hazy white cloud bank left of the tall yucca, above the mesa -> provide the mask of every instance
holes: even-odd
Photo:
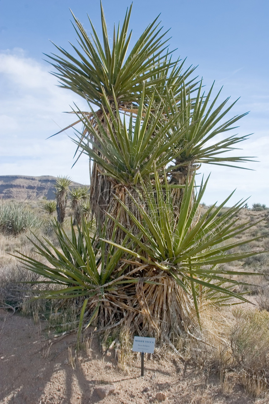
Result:
[[[0,161],[1,175],[71,175],[89,183],[88,159],[83,156],[71,170],[75,144],[65,134],[47,137],[64,128],[74,115],[73,101],[85,102],[58,88],[48,66],[27,57],[22,49],[0,53]],[[55,121],[55,122],[53,122]],[[58,125],[59,126],[58,126]],[[68,132],[72,135],[72,130]]]

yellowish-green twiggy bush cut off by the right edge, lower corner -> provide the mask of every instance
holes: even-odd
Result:
[[[269,372],[269,313],[235,309],[230,343],[234,364],[246,390],[258,396],[267,389]]]

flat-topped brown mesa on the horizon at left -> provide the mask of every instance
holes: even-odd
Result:
[[[55,198],[56,177],[42,175],[31,177],[28,175],[0,175],[0,199],[16,199],[18,201]],[[72,187],[79,187],[77,182]]]

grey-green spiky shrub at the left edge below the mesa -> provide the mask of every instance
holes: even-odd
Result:
[[[0,206],[0,227],[12,234],[33,227],[41,227],[43,221],[31,210],[17,202],[8,202]]]

